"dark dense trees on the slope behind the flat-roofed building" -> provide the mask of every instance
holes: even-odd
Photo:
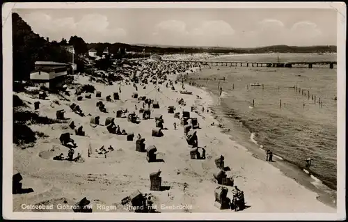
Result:
[[[35,61],[54,61],[57,63],[72,62],[72,54],[65,46],[74,46],[75,54],[86,54],[86,42],[78,36],[72,36],[69,41],[62,38],[61,42],[41,37],[31,30],[17,13],[12,14],[13,21],[13,80],[29,79],[34,69]],[[84,71],[84,62],[79,56],[74,57],[77,72]]]

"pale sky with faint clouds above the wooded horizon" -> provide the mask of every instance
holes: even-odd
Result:
[[[60,41],[262,47],[337,45],[333,9],[16,9],[35,33]]]

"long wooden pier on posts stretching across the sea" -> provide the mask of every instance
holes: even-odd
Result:
[[[292,68],[293,65],[308,65],[308,68],[313,68],[313,65],[329,65],[329,68],[333,69],[333,65],[337,65],[336,61],[317,61],[317,62],[283,62],[283,63],[271,63],[271,62],[249,62],[249,61],[182,61],[182,60],[169,60],[163,59],[163,61],[173,63],[189,63],[189,64],[201,64],[201,65],[214,65],[214,66],[244,66],[244,67],[273,67],[273,68]]]

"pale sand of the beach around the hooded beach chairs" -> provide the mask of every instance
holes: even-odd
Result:
[[[155,62],[164,63],[164,62]],[[139,76],[141,76],[139,72]],[[177,74],[168,74],[167,79],[173,80]],[[294,180],[286,177],[276,167],[267,161],[256,159],[242,145],[230,140],[230,136],[221,132],[209,106],[213,99],[205,90],[185,85],[185,89],[192,95],[180,94],[181,82],[166,87],[163,84],[136,84],[137,91],[132,84],[116,81],[112,86],[90,82],[89,77],[74,75],[74,83],[90,84],[96,91],[102,93],[96,97],[92,93],[90,99],[83,97],[77,101],[73,86],[69,86],[70,101],[49,94],[48,100],[40,100],[40,108],[36,111],[40,116],[56,118],[56,111],[64,109],[65,118],[74,120],[75,125],[82,125],[86,136],[77,136],[70,129],[68,123],[54,123],[51,125],[30,125],[35,132],[42,132],[46,137],[38,138],[32,147],[22,148],[14,145],[14,171],[21,173],[23,188],[32,188],[33,192],[13,195],[13,210],[15,212],[30,212],[22,205],[74,205],[86,197],[93,204],[93,212],[129,212],[121,204],[121,200],[134,191],[151,193],[159,212],[230,212],[230,209],[218,209],[214,206],[214,189],[219,187],[214,180],[216,172],[214,159],[223,155],[225,166],[230,168],[226,173],[233,177],[234,184],[244,191],[246,209],[244,213],[301,213],[327,212],[335,209],[316,200],[316,193],[309,191]],[[121,89],[120,100],[107,102],[105,97]],[[157,90],[159,88],[159,91]],[[139,124],[128,122],[127,118],[116,118],[116,111],[127,109],[128,113],[139,113],[143,102],[132,97],[133,93],[146,96],[159,102],[159,109],[152,109],[151,118],[142,120]],[[33,103],[38,99],[25,93],[15,93],[33,111]],[[177,103],[182,98],[186,106]],[[54,102],[56,101],[56,102]],[[96,103],[102,101],[108,113],[102,113]],[[31,104],[29,104],[30,102]],[[70,104],[78,104],[86,116],[79,116],[70,109]],[[184,128],[180,119],[168,113],[168,106],[175,106],[175,112],[190,111],[191,117],[197,118],[200,129],[197,130],[198,146],[206,150],[206,159],[190,159],[187,141],[184,138]],[[191,112],[191,106],[196,112]],[[203,107],[205,109],[203,113]],[[146,107],[147,108],[147,107]],[[24,109],[24,108],[23,108]],[[100,125],[90,125],[90,116],[100,116]],[[163,115],[164,136],[152,136],[155,129],[156,114]],[[181,114],[180,114],[181,115]],[[148,163],[146,153],[136,152],[136,138],[127,141],[125,135],[110,134],[104,125],[107,117],[115,118],[116,125],[126,132],[133,132],[134,136],[145,138],[145,148],[155,145],[157,159],[163,162]],[[212,125],[214,122],[214,125]],[[176,129],[173,124],[176,123]],[[80,161],[55,161],[53,157],[68,152],[68,148],[59,141],[59,136],[69,132],[77,143],[75,154],[81,154]],[[104,145],[112,145],[113,151],[107,154],[88,157],[88,148],[93,152]],[[98,158],[96,158],[98,157]],[[164,191],[150,191],[150,173],[161,171],[162,186],[168,187]],[[228,186],[226,186],[228,187]],[[230,198],[231,188],[228,187]],[[174,207],[173,207],[174,206]],[[177,207],[187,206],[187,207]],[[64,207],[63,207],[64,208]],[[107,208],[107,209],[106,209]],[[33,210],[35,211],[35,210]],[[45,209],[49,212],[72,212],[72,209]]]

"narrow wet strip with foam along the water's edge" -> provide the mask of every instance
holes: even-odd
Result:
[[[199,71],[196,74],[199,74]],[[196,86],[191,86],[191,87],[198,88]],[[234,118],[228,118],[227,116],[225,116],[223,114],[223,112],[221,110],[214,109],[214,106],[220,106],[218,95],[214,94],[211,90],[209,90],[206,87],[202,87],[202,88],[198,88],[198,89],[203,90],[206,93],[208,93],[210,96],[212,96],[213,104],[211,104],[211,107],[209,109],[212,109],[212,111],[214,111],[214,114],[212,114],[212,116],[217,122],[219,122],[220,124],[222,124],[224,126],[226,126],[226,124],[224,124],[223,122],[226,122],[226,121],[232,125],[235,125],[235,123],[234,123],[235,121],[239,122],[238,120],[235,120]],[[221,133],[234,136],[233,133],[230,131],[228,131],[228,132],[221,131]],[[230,138],[230,139],[233,142],[237,142],[237,143],[241,142],[238,140],[234,141],[232,138]],[[255,159],[264,160],[264,157],[266,156],[265,155],[266,150],[264,150],[263,146],[258,143],[256,134],[254,132],[250,132],[249,139],[250,140],[248,142],[253,143],[255,145],[255,148],[252,147],[253,146],[252,144],[248,144],[248,142],[245,142],[246,145],[244,145],[244,144],[240,144],[240,145],[243,145],[248,152],[251,152],[253,154],[253,157],[255,157]],[[258,150],[262,150],[262,153],[258,152]],[[263,154],[263,156],[262,156],[262,154]],[[292,164],[292,162],[287,161],[287,159],[280,157],[275,153],[273,154],[273,156],[276,157],[276,159],[278,159],[280,161],[279,162],[280,164],[276,163],[276,164],[271,164],[271,165],[274,165],[274,167],[278,168],[281,171],[281,173],[283,173],[286,177],[289,177],[290,179],[295,180],[298,184],[305,186],[306,189],[308,189],[308,191],[313,191],[314,193],[316,193],[317,200],[319,202],[324,203],[325,205],[327,205],[329,207],[333,207],[333,208],[337,209],[337,205],[336,205],[337,198],[333,199],[331,196],[332,193],[330,194],[330,193],[326,192],[326,191],[331,191],[331,192],[333,191],[337,195],[337,191],[335,189],[332,189],[331,187],[326,185],[324,182],[322,182],[322,180],[319,180],[317,177],[315,177],[315,175],[313,175],[313,173],[309,173],[308,171],[301,168],[301,166],[297,166],[296,164]],[[291,172],[292,170],[294,170],[295,173],[292,173]],[[297,174],[296,172],[303,173],[303,175],[296,177],[296,174]],[[306,174],[306,175],[304,175],[304,174]],[[306,178],[303,178],[303,176],[304,177],[309,176],[311,178],[311,180],[313,180],[313,181],[308,182],[308,181],[306,181]],[[307,178],[307,180],[308,180],[308,178]],[[324,187],[322,187],[322,186],[324,186]]]

